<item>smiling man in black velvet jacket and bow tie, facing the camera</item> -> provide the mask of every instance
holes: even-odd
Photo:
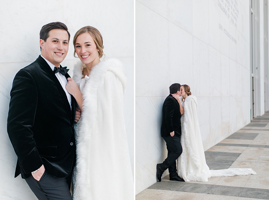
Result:
[[[68,70],[60,66],[69,39],[65,24],[44,25],[41,55],[16,74],[10,92],[7,130],[18,157],[15,177],[21,173],[38,199],[72,199],[73,123],[80,112],[65,89]]]

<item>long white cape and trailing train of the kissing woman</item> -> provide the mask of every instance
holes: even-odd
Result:
[[[181,145],[183,151],[178,158],[178,175],[185,182],[207,182],[211,176],[257,174],[250,168],[209,170],[197,118],[197,104],[196,97],[189,95],[182,105],[184,107],[184,114],[181,116]]]

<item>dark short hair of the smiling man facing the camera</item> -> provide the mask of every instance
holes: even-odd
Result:
[[[70,33],[68,32],[67,26],[64,23],[59,22],[59,21],[51,22],[51,23],[44,25],[41,28],[40,33],[39,33],[40,39],[43,39],[46,42],[48,37],[49,37],[49,31],[51,31],[52,29],[65,30],[68,33],[68,41],[70,40]],[[40,49],[41,49],[41,47],[40,47]]]

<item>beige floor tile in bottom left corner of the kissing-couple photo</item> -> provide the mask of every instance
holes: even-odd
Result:
[[[135,196],[137,200],[164,200],[175,191],[146,189]]]

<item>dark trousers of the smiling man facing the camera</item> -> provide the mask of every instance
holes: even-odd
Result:
[[[39,200],[72,200],[66,178],[56,178],[45,170],[39,181],[33,176],[25,180]]]

